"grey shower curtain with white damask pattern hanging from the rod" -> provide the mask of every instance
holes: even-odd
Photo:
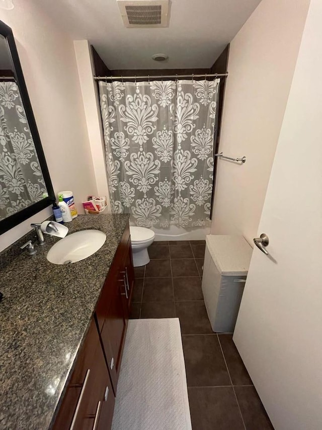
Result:
[[[112,212],[144,227],[209,223],[218,84],[99,83]]]

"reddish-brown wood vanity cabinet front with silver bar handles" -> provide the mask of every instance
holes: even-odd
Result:
[[[111,427],[133,284],[127,227],[78,354],[53,425],[55,430],[109,430]]]

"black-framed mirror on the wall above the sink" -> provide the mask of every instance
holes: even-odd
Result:
[[[53,198],[13,32],[0,21],[0,234]]]

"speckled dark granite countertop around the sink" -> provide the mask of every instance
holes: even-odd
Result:
[[[32,257],[23,253],[0,271],[0,428],[50,428],[71,376],[128,215],[79,215],[69,233],[98,229],[103,247],[69,265],[49,263],[59,240],[45,235]]]

